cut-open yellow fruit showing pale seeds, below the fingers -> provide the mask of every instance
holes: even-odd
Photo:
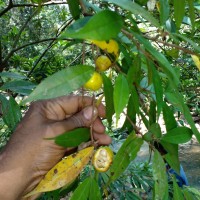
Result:
[[[106,172],[113,161],[113,152],[109,147],[100,147],[93,156],[92,164],[99,172]]]

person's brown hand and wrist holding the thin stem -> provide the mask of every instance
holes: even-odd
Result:
[[[44,138],[90,127],[93,123],[94,139],[99,145],[108,145],[111,138],[105,134],[101,117],[105,117],[103,105],[92,106],[90,97],[65,96],[33,103],[0,155],[3,160],[0,178],[7,180],[1,181],[0,199],[21,198],[72,150]],[[11,192],[7,198],[1,198],[2,188],[6,190],[6,187]]]

